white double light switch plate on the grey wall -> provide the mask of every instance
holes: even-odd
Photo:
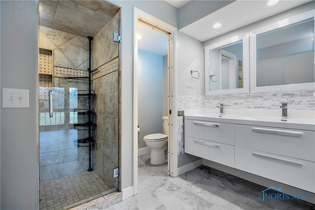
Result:
[[[29,90],[2,88],[2,108],[29,108]]]

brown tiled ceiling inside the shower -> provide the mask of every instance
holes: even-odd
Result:
[[[119,11],[105,0],[39,0],[39,25],[95,36]]]

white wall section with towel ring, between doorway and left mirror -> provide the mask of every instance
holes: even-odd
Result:
[[[204,49],[202,42],[178,31],[178,94],[204,94]],[[190,75],[190,70],[199,71],[199,79]],[[195,75],[195,74],[194,74]]]

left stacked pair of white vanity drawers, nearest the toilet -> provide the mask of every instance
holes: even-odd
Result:
[[[185,120],[185,152],[234,168],[234,124]]]

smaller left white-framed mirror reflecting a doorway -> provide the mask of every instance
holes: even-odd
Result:
[[[248,37],[243,34],[205,47],[206,95],[249,91]]]

